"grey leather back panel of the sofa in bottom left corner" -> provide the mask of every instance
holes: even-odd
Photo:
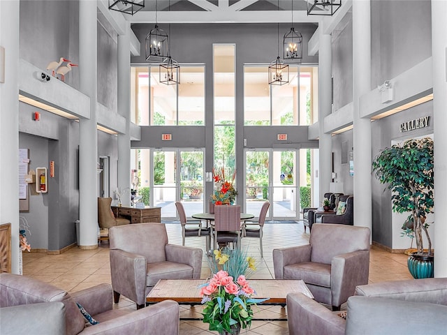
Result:
[[[1,334],[65,334],[65,305],[60,301],[0,308]]]

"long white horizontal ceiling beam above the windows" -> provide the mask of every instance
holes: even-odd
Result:
[[[233,9],[230,6],[229,9]],[[135,15],[126,15],[131,23],[154,23],[155,12],[140,11]],[[305,10],[293,10],[294,23],[319,23],[322,17],[307,15]],[[214,11],[177,11],[158,12],[158,23],[288,23],[291,22],[290,10],[214,10]]]

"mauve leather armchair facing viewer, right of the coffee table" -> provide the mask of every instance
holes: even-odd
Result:
[[[368,283],[369,228],[315,223],[309,244],[273,250],[277,279],[302,279],[315,300],[338,310]]]

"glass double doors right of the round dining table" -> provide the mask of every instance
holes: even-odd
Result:
[[[245,211],[256,216],[270,202],[267,220],[297,220],[299,193],[296,150],[245,151]]]

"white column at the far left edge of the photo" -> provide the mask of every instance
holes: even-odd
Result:
[[[0,46],[5,81],[0,82],[0,224],[11,223],[11,271],[19,274],[19,1],[0,1]]]

